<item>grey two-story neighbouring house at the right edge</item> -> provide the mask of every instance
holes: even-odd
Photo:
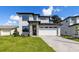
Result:
[[[61,35],[79,37],[79,16],[70,16],[63,20]]]

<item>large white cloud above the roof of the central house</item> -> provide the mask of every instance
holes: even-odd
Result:
[[[47,9],[44,8],[42,10],[42,13],[43,13],[44,16],[51,16],[52,13],[60,12],[60,11],[61,11],[61,9],[58,9],[58,8],[54,9],[53,6],[49,6],[49,8],[47,8]]]

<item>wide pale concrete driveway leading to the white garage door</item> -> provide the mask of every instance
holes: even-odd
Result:
[[[79,42],[58,36],[41,36],[57,52],[79,52]]]

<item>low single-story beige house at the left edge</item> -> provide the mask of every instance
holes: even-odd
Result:
[[[0,36],[12,35],[15,28],[16,27],[9,25],[0,26]]]

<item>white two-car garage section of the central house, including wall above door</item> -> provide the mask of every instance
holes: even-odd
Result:
[[[52,25],[40,25],[39,36],[60,36],[60,28]]]

